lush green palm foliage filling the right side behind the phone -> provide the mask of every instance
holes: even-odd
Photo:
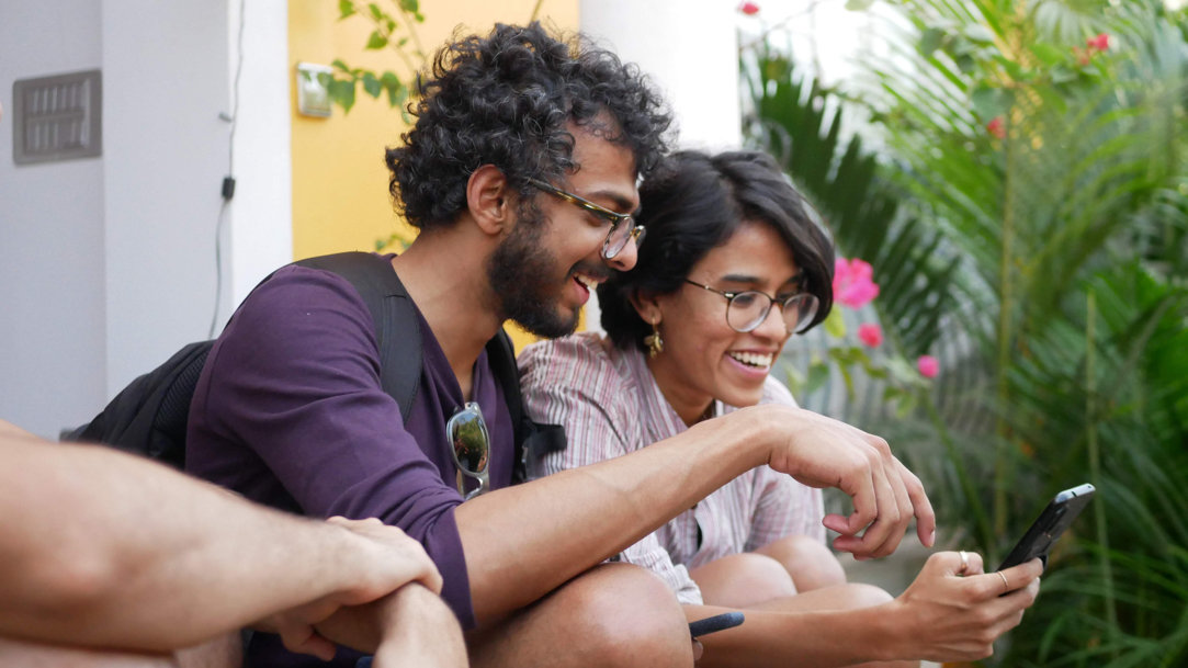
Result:
[[[866,62],[877,86],[842,97],[794,82],[777,102],[784,84],[766,82],[753,96],[773,107],[758,115],[800,115],[763,134],[810,153],[788,164],[798,182],[816,179],[819,203],[892,200],[880,248],[915,221],[916,244],[936,256],[921,270],[956,264],[948,281],[917,281],[949,300],[935,341],[971,342],[963,366],[978,370],[972,391],[992,422],[963,428],[944,397],[922,403],[937,409],[936,429],[917,422],[916,433],[961,443],[928,450],[947,461],[921,472],[953,491],[937,503],[942,521],[984,518],[973,537],[993,563],[1043,497],[1083,481],[1101,489],[1003,663],[1183,664],[1188,17],[1154,0],[890,4],[910,30],[886,30],[886,53]],[[868,177],[838,150],[836,119],[821,121],[855,102],[884,143]],[[847,200],[830,191],[842,174],[870,185]],[[828,207],[846,252],[847,235],[877,229]],[[918,300],[903,303],[911,313]]]

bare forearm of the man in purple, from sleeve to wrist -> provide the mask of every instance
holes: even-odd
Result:
[[[460,505],[480,623],[537,600],[764,464],[758,427],[737,415]]]

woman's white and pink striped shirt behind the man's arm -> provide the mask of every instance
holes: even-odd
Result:
[[[569,442],[562,452],[530,458],[531,478],[624,455],[688,429],[661,393],[643,353],[620,351],[598,334],[533,344],[520,354],[519,370],[527,415],[561,424]],[[796,405],[788,387],[771,377],[760,403]],[[715,410],[722,415],[737,409],[716,402]],[[760,466],[631,546],[621,557],[661,575],[681,603],[700,604],[701,591],[689,568],[790,535],[823,542],[823,515],[820,490]]]

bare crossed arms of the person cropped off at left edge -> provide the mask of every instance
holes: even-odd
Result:
[[[168,666],[253,624],[328,656],[312,624],[371,601],[377,666],[466,664],[437,571],[375,519],[293,517],[2,421],[0,513],[2,666]]]

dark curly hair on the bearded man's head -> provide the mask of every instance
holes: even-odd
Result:
[[[385,163],[397,208],[421,229],[453,222],[481,165],[499,168],[525,197],[529,178],[551,182],[575,169],[570,121],[631,149],[640,175],[665,152],[671,124],[636,65],[580,38],[557,39],[538,23],[498,24],[486,38],[447,44],[417,93],[417,122]],[[614,126],[592,126],[604,113]]]

